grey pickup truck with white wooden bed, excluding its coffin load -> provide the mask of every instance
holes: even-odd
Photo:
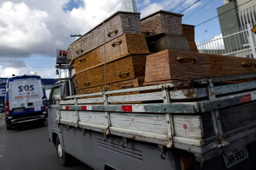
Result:
[[[256,74],[73,91],[56,83],[49,99],[63,166],[72,155],[96,170],[255,169]]]

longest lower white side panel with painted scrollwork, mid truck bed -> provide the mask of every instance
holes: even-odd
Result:
[[[165,115],[110,113],[111,126],[167,134]]]

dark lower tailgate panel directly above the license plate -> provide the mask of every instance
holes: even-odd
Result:
[[[256,102],[219,111],[222,129],[227,132],[232,129],[253,123],[256,121]]]

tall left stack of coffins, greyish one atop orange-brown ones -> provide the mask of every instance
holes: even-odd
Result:
[[[140,13],[116,12],[69,46],[76,94],[142,85],[148,54]]]

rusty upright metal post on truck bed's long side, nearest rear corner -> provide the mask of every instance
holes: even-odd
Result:
[[[163,103],[171,103],[170,94],[168,88],[165,85],[162,86],[162,94],[163,94]],[[167,122],[167,130],[168,130],[168,141],[167,148],[173,147],[173,136],[175,136],[174,124],[173,124],[173,116],[171,113],[166,113],[166,122]]]

